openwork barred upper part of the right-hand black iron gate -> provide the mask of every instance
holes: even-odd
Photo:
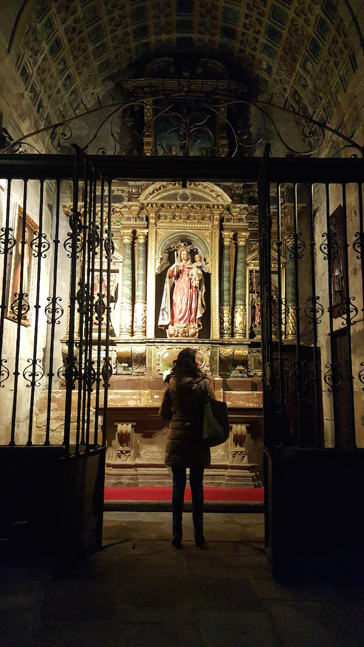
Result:
[[[284,173],[266,148],[258,178],[265,446],[355,448],[364,384],[362,161],[322,160],[321,169],[297,161]]]

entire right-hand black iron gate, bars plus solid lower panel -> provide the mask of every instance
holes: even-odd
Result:
[[[289,167],[269,148],[260,168],[266,548],[284,580],[363,575],[362,179],[363,160]]]

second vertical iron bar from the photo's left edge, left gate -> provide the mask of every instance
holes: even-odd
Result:
[[[12,427],[11,427],[11,433],[10,433],[10,445],[15,445],[15,422],[16,422],[16,407],[17,407],[17,383],[19,379],[19,353],[20,353],[20,334],[21,334],[21,318],[23,316],[23,301],[25,301],[25,296],[28,297],[29,300],[29,294],[23,294],[23,278],[24,278],[24,245],[25,245],[25,228],[26,228],[26,222],[27,222],[27,188],[28,188],[28,181],[27,179],[24,181],[24,187],[23,187],[23,225],[21,227],[21,260],[20,260],[20,281],[19,281],[19,294],[17,295],[17,299],[14,300],[13,302],[13,295],[10,294],[11,290],[11,285],[9,287],[9,295],[8,295],[8,302],[11,300],[11,309],[13,309],[14,304],[17,301],[17,313],[14,309],[14,319],[16,318],[17,320],[17,331],[16,331],[16,353],[15,353],[15,363],[14,363],[14,393],[13,393],[13,406],[12,406]],[[16,215],[17,217],[17,215]],[[14,236],[14,239],[16,237]],[[16,253],[16,248],[13,248],[14,253]],[[11,265],[9,264],[9,272],[11,275]],[[28,287],[28,292],[29,292],[29,287]],[[14,296],[16,296],[14,294]],[[5,307],[4,303],[4,307]],[[29,308],[28,308],[29,309]],[[16,316],[15,316],[16,314]],[[27,444],[32,444],[32,436],[31,434],[28,433],[28,441]]]

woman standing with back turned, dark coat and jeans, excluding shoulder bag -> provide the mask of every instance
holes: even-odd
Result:
[[[186,468],[190,468],[192,520],[196,546],[205,543],[203,536],[203,470],[210,465],[210,449],[203,445],[203,391],[214,397],[210,380],[201,371],[196,351],[185,348],[174,361],[166,378],[168,386],[163,395],[159,415],[170,420],[165,464],[172,468],[172,545],[181,547],[183,499]]]

